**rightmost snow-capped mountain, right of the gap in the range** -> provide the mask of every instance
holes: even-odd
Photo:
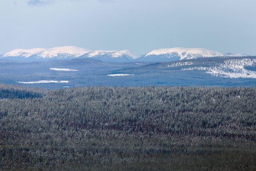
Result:
[[[206,57],[222,57],[222,56],[248,56],[245,54],[224,54],[218,51],[206,50],[205,48],[163,48],[154,50],[137,59],[140,61],[175,61],[184,59],[196,59]]]

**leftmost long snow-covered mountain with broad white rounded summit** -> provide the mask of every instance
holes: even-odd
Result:
[[[2,58],[15,58],[15,59],[72,59],[91,52],[82,47],[63,46],[54,48],[32,48],[17,49],[2,55]]]

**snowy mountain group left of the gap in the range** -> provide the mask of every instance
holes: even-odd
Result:
[[[73,59],[73,58],[94,58],[106,62],[128,62],[138,56],[128,50],[122,51],[91,51],[81,47],[63,46],[54,48],[32,48],[17,49],[2,55],[2,58],[15,59]]]

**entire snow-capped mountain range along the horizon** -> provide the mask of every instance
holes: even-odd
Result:
[[[54,48],[32,48],[17,49],[7,52],[0,56],[2,59],[29,59],[29,60],[46,60],[46,59],[74,59],[86,58],[97,59],[104,62],[131,62],[133,60],[141,62],[168,62],[184,59],[196,59],[206,57],[225,57],[225,56],[249,56],[246,54],[222,53],[205,48],[164,48],[153,50],[143,56],[137,56],[128,50],[96,50],[91,51],[82,47],[63,46]]]

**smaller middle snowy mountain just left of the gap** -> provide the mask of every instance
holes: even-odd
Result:
[[[104,62],[130,62],[132,59],[137,58],[135,54],[128,50],[123,51],[104,51],[97,50],[84,54],[79,58],[90,58],[102,60]]]

